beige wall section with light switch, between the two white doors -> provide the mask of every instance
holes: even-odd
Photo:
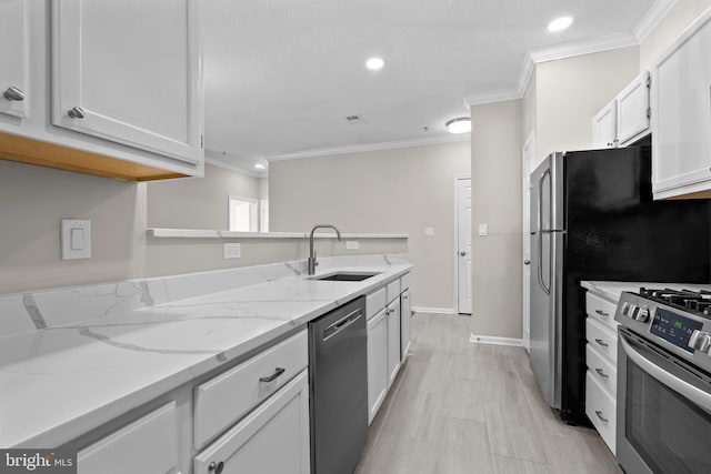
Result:
[[[522,101],[471,107],[472,332],[521,337]],[[479,224],[487,223],[487,236]]]

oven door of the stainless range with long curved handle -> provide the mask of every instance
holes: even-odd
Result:
[[[618,462],[628,474],[711,473],[711,380],[620,327]]]

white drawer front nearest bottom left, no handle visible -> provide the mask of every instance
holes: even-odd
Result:
[[[179,472],[176,402],[77,453],[79,474]]]

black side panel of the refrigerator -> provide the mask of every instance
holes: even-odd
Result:
[[[565,270],[561,416],[585,420],[581,280],[705,283],[711,208],[652,201],[648,147],[565,154]]]

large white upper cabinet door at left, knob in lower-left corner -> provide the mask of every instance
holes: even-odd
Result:
[[[52,2],[52,123],[201,160],[201,43],[194,0]]]

